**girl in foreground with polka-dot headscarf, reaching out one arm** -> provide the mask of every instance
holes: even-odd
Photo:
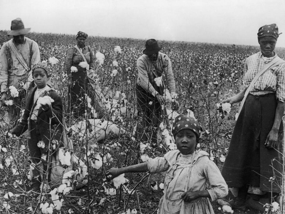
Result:
[[[224,178],[205,151],[195,151],[201,126],[196,119],[180,114],[175,118],[172,134],[178,150],[167,152],[164,157],[149,158],[123,168],[111,168],[106,172],[113,179],[126,172],[159,173],[167,171],[164,180],[164,196],[159,202],[160,214],[193,213],[212,214],[212,201],[227,196]],[[206,190],[207,184],[210,187]]]

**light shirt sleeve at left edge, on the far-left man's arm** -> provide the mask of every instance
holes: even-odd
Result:
[[[1,85],[1,93],[5,92],[8,84],[8,59],[6,52],[6,44],[1,47],[0,50],[0,85]]]

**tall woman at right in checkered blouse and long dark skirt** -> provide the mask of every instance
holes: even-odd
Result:
[[[265,25],[257,33],[261,51],[244,64],[245,88],[222,103],[242,101],[229,144],[222,175],[230,187],[238,188],[234,206],[246,209],[258,204],[260,195],[281,193],[282,147],[285,108],[285,62],[274,52],[278,34],[276,24]],[[271,197],[269,197],[270,202]]]

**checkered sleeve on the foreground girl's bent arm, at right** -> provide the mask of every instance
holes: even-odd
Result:
[[[204,173],[210,184],[208,192],[211,196],[211,200],[215,201],[216,199],[227,196],[228,186],[221,175],[219,168],[213,161],[208,161],[208,164],[205,165]]]

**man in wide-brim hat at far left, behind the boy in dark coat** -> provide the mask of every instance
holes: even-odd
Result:
[[[21,107],[23,108],[21,100],[25,98],[26,90],[33,80],[31,67],[41,60],[38,44],[24,36],[30,30],[31,28],[24,27],[20,18],[12,20],[11,30],[7,35],[13,36],[13,39],[4,43],[0,50],[1,102],[7,105],[9,103],[8,118],[12,126],[19,119]],[[18,89],[18,97],[11,96],[13,89],[9,89],[10,86]],[[13,100],[13,104],[7,100]]]

